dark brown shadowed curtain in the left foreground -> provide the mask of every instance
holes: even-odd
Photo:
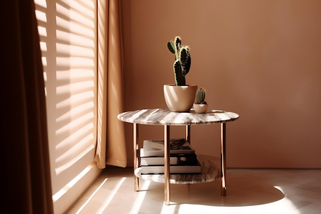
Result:
[[[2,210],[53,213],[45,83],[33,0],[2,3]]]

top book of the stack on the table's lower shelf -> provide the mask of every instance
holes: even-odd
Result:
[[[164,156],[164,140],[144,140],[145,156]],[[186,139],[171,139],[170,154],[194,154],[195,150]]]

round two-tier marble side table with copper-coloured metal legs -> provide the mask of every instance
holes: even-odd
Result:
[[[141,109],[134,111],[127,111],[118,114],[118,120],[133,124],[133,143],[134,143],[134,189],[139,190],[138,178],[153,180],[155,177],[145,177],[139,173],[138,159],[139,159],[139,146],[138,146],[138,124],[145,125],[163,125],[164,126],[164,159],[165,159],[165,172],[164,176],[160,176],[155,181],[165,183],[165,204],[170,204],[170,183],[184,183],[182,177],[175,177],[170,174],[169,170],[169,141],[170,141],[170,126],[186,126],[186,140],[191,142],[190,126],[191,125],[209,125],[221,124],[221,160],[220,160],[220,175],[222,179],[221,195],[226,196],[226,123],[234,121],[239,118],[239,115],[234,112],[223,110],[208,110],[206,113],[196,113],[193,109],[189,112],[172,112],[169,109]],[[208,159],[208,158],[207,158]],[[213,168],[215,171],[215,169]],[[213,171],[211,170],[211,171]],[[214,173],[214,172],[213,172]],[[217,173],[217,170],[216,170]],[[204,174],[203,174],[204,176]],[[208,176],[208,175],[205,175]],[[159,177],[159,176],[158,176]],[[210,179],[199,180],[199,182],[208,182],[217,179],[217,174],[213,174]],[[191,178],[189,178],[191,179]],[[196,179],[197,180],[197,179]],[[186,183],[196,183],[194,178],[192,181],[185,181]]]

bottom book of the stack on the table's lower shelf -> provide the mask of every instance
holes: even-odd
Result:
[[[200,174],[201,167],[197,160],[196,164],[191,165],[170,165],[169,172],[170,174]],[[141,168],[142,174],[164,174],[165,171],[164,165],[141,166]]]

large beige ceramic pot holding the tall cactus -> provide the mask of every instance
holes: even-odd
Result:
[[[169,110],[189,112],[195,101],[197,85],[164,85],[164,98]]]

